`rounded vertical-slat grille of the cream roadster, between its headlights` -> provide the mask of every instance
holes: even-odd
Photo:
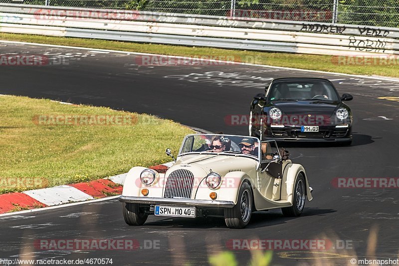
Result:
[[[194,174],[186,169],[173,171],[168,176],[165,186],[165,198],[191,198]]]

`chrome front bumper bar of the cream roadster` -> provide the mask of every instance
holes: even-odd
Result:
[[[219,200],[193,200],[193,199],[120,196],[119,201],[127,203],[150,204],[150,205],[165,204],[171,206],[219,207],[219,208],[234,207],[234,202],[232,201],[219,201]]]

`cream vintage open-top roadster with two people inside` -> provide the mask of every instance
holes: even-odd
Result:
[[[276,141],[257,137],[190,134],[165,174],[136,166],[127,174],[122,212],[128,225],[149,215],[224,216],[229,228],[244,228],[254,211],[281,208],[299,216],[312,188],[302,165],[288,159]]]

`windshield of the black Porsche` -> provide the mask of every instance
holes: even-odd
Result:
[[[324,81],[276,82],[270,88],[269,101],[338,101],[336,90]]]

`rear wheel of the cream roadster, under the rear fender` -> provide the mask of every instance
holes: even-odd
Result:
[[[295,217],[302,214],[306,201],[306,182],[303,174],[299,174],[294,185],[292,206],[281,208],[284,216]]]

